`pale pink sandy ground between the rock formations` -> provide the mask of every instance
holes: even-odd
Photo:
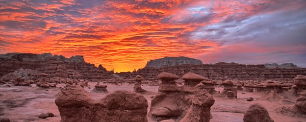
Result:
[[[86,91],[91,91],[96,83],[89,83],[91,89],[85,88]],[[11,87],[5,85],[0,86],[0,118],[9,118],[11,121],[60,121],[60,113],[55,105],[56,94],[60,91],[60,88],[39,88],[36,86],[14,86]],[[148,101],[148,105],[151,102],[151,96],[154,96],[154,92],[158,92],[159,86],[143,85],[142,88],[148,91],[152,91],[153,94],[144,94],[144,97]],[[122,84],[120,86],[108,84],[107,89],[112,92],[115,90],[127,90],[133,91],[133,84]],[[222,88],[216,88],[217,91],[221,91]],[[244,94],[242,93],[244,92]],[[99,100],[107,94],[104,93],[91,93],[95,100]],[[230,121],[243,121],[244,112],[248,107],[254,103],[259,103],[264,106],[272,119],[275,122],[292,122],[292,121],[304,121],[306,118],[291,117],[277,113],[275,108],[281,107],[279,103],[258,101],[257,99],[262,95],[259,92],[246,92],[238,91],[237,100],[228,100],[220,97],[214,97],[215,104],[211,107],[211,113],[213,118],[212,122],[230,122]],[[254,101],[247,102],[247,97],[253,97]],[[292,100],[295,101],[295,100]],[[293,104],[292,104],[293,105]],[[148,108],[149,109],[149,108]],[[52,112],[56,116],[46,119],[38,118],[41,113]],[[149,119],[149,121],[151,121]]]

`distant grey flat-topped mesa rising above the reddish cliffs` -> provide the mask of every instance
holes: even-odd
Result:
[[[182,64],[203,64],[202,61],[188,57],[164,57],[161,59],[150,60],[146,64],[147,67],[160,68]]]

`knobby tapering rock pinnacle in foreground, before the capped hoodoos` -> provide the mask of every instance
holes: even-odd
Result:
[[[205,87],[203,84],[196,85],[192,105],[180,122],[209,122],[212,118],[210,108],[215,100],[203,87]]]

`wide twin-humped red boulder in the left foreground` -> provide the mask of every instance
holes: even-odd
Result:
[[[55,103],[61,122],[147,121],[147,100],[135,92],[115,91],[95,101],[80,85],[68,85],[58,93]]]

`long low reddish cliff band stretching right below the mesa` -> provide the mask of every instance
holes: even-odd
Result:
[[[166,71],[180,78],[187,72],[193,72],[212,80],[286,80],[292,81],[296,75],[306,75],[306,68],[266,68],[264,65],[244,65],[237,63],[216,63],[201,65],[180,65],[171,67],[145,67],[133,74],[141,75],[145,80],[156,80],[161,72]],[[119,76],[121,76],[119,74]],[[135,76],[134,76],[135,77]]]

